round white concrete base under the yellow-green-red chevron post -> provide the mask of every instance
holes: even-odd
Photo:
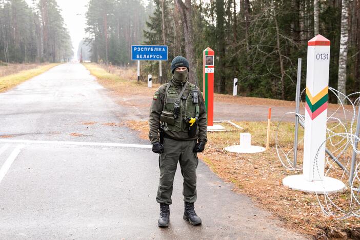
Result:
[[[332,177],[324,177],[323,181],[306,181],[303,175],[287,176],[283,179],[285,187],[308,193],[330,194],[336,192],[343,192],[346,187],[345,184]]]

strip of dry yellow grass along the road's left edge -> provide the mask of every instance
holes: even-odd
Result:
[[[6,71],[6,73],[9,72],[16,72],[13,74],[9,74],[9,75],[5,75],[0,77],[0,92],[5,92],[7,90],[9,90],[10,88],[15,87],[18,84],[21,84],[23,82],[25,82],[26,80],[37,76],[39,74],[42,74],[43,72],[48,71],[50,68],[55,67],[56,65],[58,65],[57,63],[54,64],[46,64],[46,65],[13,65],[10,64],[9,66],[2,66],[0,67],[0,69],[6,68],[7,70],[2,70],[3,74],[4,71]],[[12,69],[11,67],[13,67],[14,69]],[[32,67],[31,69],[28,70],[23,70],[26,69],[27,67]],[[17,70],[19,70],[17,72]]]

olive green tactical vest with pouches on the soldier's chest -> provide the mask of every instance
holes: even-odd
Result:
[[[160,121],[165,123],[167,130],[180,132],[189,130],[189,126],[184,119],[189,117],[198,117],[199,106],[192,101],[192,93],[196,91],[195,85],[189,83],[189,95],[183,97],[184,91],[188,86],[188,82],[184,85],[180,94],[171,82],[168,83],[165,92],[165,101]]]

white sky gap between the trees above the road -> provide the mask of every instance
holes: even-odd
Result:
[[[29,6],[32,6],[32,0],[26,0]],[[76,58],[77,46],[81,39],[85,37],[87,11],[86,5],[89,0],[56,0],[57,5],[62,10],[64,22],[69,30],[74,55]]]

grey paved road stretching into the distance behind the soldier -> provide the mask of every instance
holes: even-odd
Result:
[[[121,124],[122,111],[80,64],[0,94],[1,239],[302,238],[203,163],[195,207],[204,224],[182,219],[177,172],[170,227],[159,229],[157,155]]]

